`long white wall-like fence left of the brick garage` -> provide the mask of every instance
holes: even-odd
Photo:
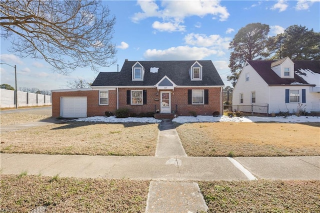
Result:
[[[0,97],[1,108],[15,107],[14,90],[0,89]],[[51,105],[51,95],[17,91],[17,97],[18,107]]]

